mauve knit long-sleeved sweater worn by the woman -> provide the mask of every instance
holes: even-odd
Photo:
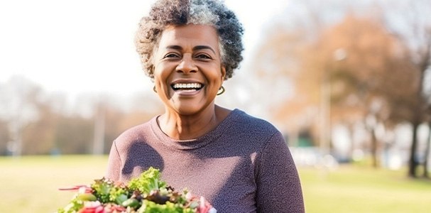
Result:
[[[218,213],[305,212],[300,179],[280,131],[239,109],[206,135],[175,141],[156,117],[112,144],[106,178],[127,182],[153,166],[175,190],[204,196]]]

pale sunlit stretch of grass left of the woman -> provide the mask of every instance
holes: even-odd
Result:
[[[0,158],[0,212],[55,212],[74,195],[58,188],[92,183],[106,164],[105,156]]]

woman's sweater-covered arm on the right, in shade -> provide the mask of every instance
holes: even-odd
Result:
[[[305,212],[298,171],[280,132],[256,160],[258,212]]]

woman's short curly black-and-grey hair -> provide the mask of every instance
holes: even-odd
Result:
[[[222,64],[226,69],[224,80],[232,77],[243,60],[244,28],[235,13],[219,0],[159,0],[153,4],[149,15],[141,19],[135,38],[136,51],[146,75],[154,78],[153,51],[163,30],[187,24],[206,24],[217,29]]]

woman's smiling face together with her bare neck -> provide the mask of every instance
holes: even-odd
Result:
[[[159,122],[168,124],[160,127],[165,127],[163,131],[169,136],[176,139],[202,136],[229,114],[226,109],[214,109],[214,99],[226,75],[214,27],[189,24],[166,28],[154,61],[156,91],[166,109]],[[177,115],[182,116],[181,121],[195,119],[195,124],[181,130],[170,125],[173,121],[170,119]]]

